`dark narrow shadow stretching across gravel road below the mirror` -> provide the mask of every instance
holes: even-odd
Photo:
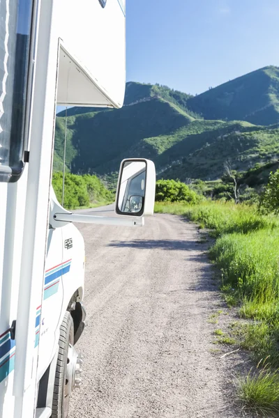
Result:
[[[139,249],[167,249],[197,251],[196,242],[176,240],[131,240],[112,241],[107,247],[139,248]]]

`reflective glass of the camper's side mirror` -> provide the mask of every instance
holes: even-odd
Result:
[[[146,162],[126,161],[121,173],[119,211],[139,213],[142,210],[145,194]]]

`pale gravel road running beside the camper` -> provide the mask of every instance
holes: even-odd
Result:
[[[239,418],[231,356],[213,354],[220,296],[195,225],[155,215],[144,228],[78,228],[88,325],[70,418]]]

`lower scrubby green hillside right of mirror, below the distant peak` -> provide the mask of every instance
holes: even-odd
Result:
[[[201,146],[197,146],[194,152],[188,151],[189,139],[174,147],[176,155],[181,153],[181,158],[169,164],[160,174],[161,177],[179,178],[182,181],[187,178],[213,180],[223,175],[227,160],[232,161],[234,169],[246,171],[257,162],[268,162],[279,157],[278,127],[259,127],[245,122],[223,123],[210,135],[205,131],[196,137]],[[195,138],[190,139],[195,143]]]

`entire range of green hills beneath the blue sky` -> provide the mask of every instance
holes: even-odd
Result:
[[[158,178],[184,181],[220,177],[227,159],[247,170],[278,157],[279,125],[262,126],[279,121],[278,96],[276,67],[195,98],[167,86],[128,82],[122,109],[68,109],[67,169],[96,173],[108,185],[115,184],[125,157],[150,158]],[[64,116],[56,118],[54,171],[63,167]]]

